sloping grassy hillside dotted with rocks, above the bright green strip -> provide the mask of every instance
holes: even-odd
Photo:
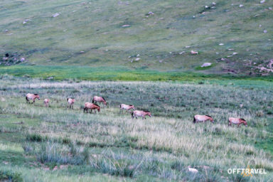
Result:
[[[212,3],[3,0],[0,54],[26,58],[21,63],[26,65],[122,65],[247,75],[259,73],[257,67],[271,69],[273,1]],[[60,15],[53,18],[56,13]],[[8,65],[16,63],[14,58]],[[200,69],[206,62],[213,65]]]

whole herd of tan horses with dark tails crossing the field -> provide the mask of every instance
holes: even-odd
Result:
[[[29,104],[31,103],[30,100],[33,100],[32,103],[35,103],[36,99],[40,100],[40,96],[38,94],[28,93],[26,95],[26,102]],[[50,100],[47,98],[43,101],[43,103],[45,104],[45,107],[49,107],[49,102],[50,102]],[[68,102],[67,108],[73,109],[75,99],[67,98],[67,102]],[[83,112],[88,113],[88,109],[90,109],[90,113],[92,113],[92,110],[94,110],[94,112],[96,113],[96,109],[97,109],[97,112],[100,112],[100,105],[97,105],[97,102],[102,102],[104,105],[107,105],[107,102],[104,97],[95,96],[92,99],[92,103],[85,102],[85,107],[83,108]],[[134,105],[125,105],[125,104],[119,105],[119,113],[120,112],[123,113],[123,110],[126,110],[127,112],[131,112],[132,119],[134,119],[134,117],[136,119],[137,119],[137,117],[142,117],[142,119],[146,119],[147,115],[149,117],[151,117],[151,112],[149,112],[147,110],[135,110]],[[198,123],[198,122],[206,122],[208,120],[210,120],[210,122],[214,123],[213,117],[210,117],[209,115],[196,114],[193,117],[194,124]],[[228,126],[231,126],[232,124],[237,124],[237,127],[240,127],[241,124],[244,124],[245,127],[247,127],[247,121],[245,121],[245,119],[242,119],[242,118],[230,117],[228,119]]]

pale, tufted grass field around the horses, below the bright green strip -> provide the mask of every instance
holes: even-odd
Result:
[[[272,83],[48,81],[1,75],[0,181],[272,181]],[[27,104],[25,95],[41,100]],[[82,107],[102,95],[97,114]],[[66,98],[75,97],[74,109]],[[45,108],[43,99],[49,98]],[[119,104],[149,109],[131,119]],[[193,124],[195,114],[215,123]],[[248,127],[228,127],[243,117]],[[242,177],[228,168],[264,168]],[[197,168],[198,173],[188,171]]]

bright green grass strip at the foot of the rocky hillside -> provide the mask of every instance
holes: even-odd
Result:
[[[81,66],[30,66],[14,65],[0,67],[0,74],[9,74],[18,77],[38,77],[50,80],[122,80],[122,81],[193,81],[200,80],[267,80],[272,81],[272,76],[246,77],[245,75],[213,75],[192,72],[158,71],[124,67],[81,67]]]

